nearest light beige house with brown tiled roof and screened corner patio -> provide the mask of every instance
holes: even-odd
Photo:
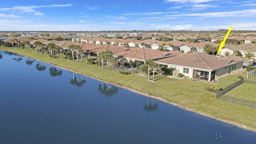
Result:
[[[243,61],[243,58],[234,55],[220,58],[202,52],[191,52],[156,60],[156,63],[174,68],[174,77],[177,77],[178,73],[182,73],[190,78],[211,81],[242,69]]]

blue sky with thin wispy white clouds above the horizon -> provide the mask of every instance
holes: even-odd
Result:
[[[256,0],[4,0],[0,31],[256,30]]]

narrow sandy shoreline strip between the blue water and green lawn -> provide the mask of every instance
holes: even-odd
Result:
[[[10,50],[9,50],[9,51],[10,51]],[[13,52],[13,51],[10,51],[10,52]],[[17,53],[17,52],[14,52],[14,53],[19,54],[19,53]],[[23,54],[20,54],[20,55],[25,56],[25,55],[23,55]],[[28,56],[26,56],[26,57],[28,57]],[[31,57],[29,57],[29,58],[31,58]],[[36,58],[33,58],[33,59],[38,60],[38,59],[36,59]],[[38,61],[42,61],[42,60],[38,60]],[[42,62],[44,62],[44,61],[42,61]],[[50,62],[45,62],[45,63],[51,64]],[[52,65],[53,65],[53,64],[52,64]],[[56,65],[55,65],[55,66],[56,66]],[[70,72],[75,72],[75,73],[81,74],[80,72],[76,72],[76,71],[74,71],[74,70],[69,70],[69,69],[63,68],[63,67],[61,67],[61,66],[57,66],[57,67],[62,68],[62,69],[64,69],[64,70],[68,70],[68,71],[70,71]],[[81,74],[81,75],[86,76],[86,74]],[[94,78],[94,79],[96,79],[96,80],[99,80],[99,81],[102,81],[102,82],[106,82],[106,83],[109,83],[109,84],[113,84],[113,83],[110,83],[110,82],[107,82],[107,81],[104,81],[104,80],[100,80],[100,79],[95,78],[95,77],[92,77],[92,76],[87,76],[87,77],[89,77],[89,78]],[[138,93],[138,94],[142,94],[142,95],[144,95],[144,96],[148,96],[148,97],[151,97],[151,98],[155,98],[155,99],[157,99],[157,100],[161,100],[161,101],[166,102],[166,103],[168,103],[168,104],[172,104],[172,105],[177,106],[177,107],[179,107],[179,108],[182,108],[182,109],[184,109],[184,110],[188,110],[188,111],[190,111],[190,112],[194,112],[194,113],[200,114],[200,115],[202,115],[202,116],[207,116],[207,117],[210,117],[210,118],[214,118],[214,119],[216,119],[216,120],[219,120],[219,121],[222,121],[222,122],[226,122],[226,123],[228,123],[228,124],[234,124],[234,125],[236,125],[236,126],[238,126],[238,127],[240,127],[240,128],[243,128],[243,129],[246,129],[246,130],[252,130],[252,131],[256,132],[256,128],[248,127],[248,126],[245,126],[244,124],[241,124],[241,123],[238,123],[238,122],[234,122],[234,121],[232,121],[232,120],[224,120],[224,119],[221,119],[221,118],[216,118],[216,117],[214,117],[214,116],[212,116],[212,115],[210,115],[210,114],[207,114],[207,113],[204,113],[204,112],[200,112],[200,111],[196,111],[196,110],[194,110],[194,109],[186,108],[186,106],[183,106],[183,105],[178,104],[178,103],[176,103],[176,102],[168,102],[168,101],[165,100],[164,98],[160,98],[160,97],[158,97],[158,96],[151,96],[151,95],[149,95],[149,94],[145,94],[145,93],[139,92],[139,91],[137,91],[137,90],[128,88],[128,87],[126,87],[126,86],[119,86],[118,84],[113,84],[113,85],[116,85],[116,86],[118,86],[118,87],[120,87],[120,88],[124,88],[124,89],[130,90],[130,91],[135,92],[135,93]]]

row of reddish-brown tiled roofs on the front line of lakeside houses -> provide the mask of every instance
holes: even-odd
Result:
[[[10,42],[11,39],[3,40],[4,42]],[[20,42],[24,42],[27,39],[18,39]],[[186,66],[186,67],[194,67],[205,70],[216,70],[218,68],[232,65],[237,62],[242,62],[244,59],[239,58],[237,56],[227,56],[227,57],[216,57],[210,54],[204,54],[202,52],[192,52],[189,54],[184,54],[178,50],[163,52],[160,50],[154,50],[150,48],[127,48],[123,46],[116,46],[111,44],[106,45],[98,45],[91,43],[78,43],[78,42],[70,42],[70,41],[57,41],[57,40],[30,40],[31,44],[34,42],[40,41],[43,44],[47,45],[49,43],[54,43],[60,48],[68,49],[70,44],[79,45],[85,52],[96,52],[99,53],[101,51],[110,50],[114,56],[122,55],[125,58],[132,58],[134,60],[145,61],[148,59],[156,60],[159,64],[171,64],[177,66]],[[255,45],[255,44],[254,44]]]

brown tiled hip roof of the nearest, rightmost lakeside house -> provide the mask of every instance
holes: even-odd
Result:
[[[243,58],[234,55],[220,58],[202,52],[191,52],[184,55],[157,60],[156,62],[160,64],[214,71],[242,61],[244,61]]]

